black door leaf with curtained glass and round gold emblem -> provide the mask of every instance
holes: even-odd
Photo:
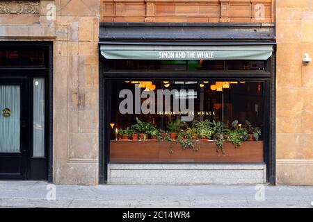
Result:
[[[0,179],[26,179],[29,88],[26,79],[0,78]]]

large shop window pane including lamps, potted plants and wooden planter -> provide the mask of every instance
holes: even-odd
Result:
[[[166,91],[168,94],[164,96]],[[159,96],[160,94],[162,95]],[[110,160],[113,162],[263,161],[264,82],[113,80],[110,95]],[[136,118],[143,124],[138,124]],[[177,120],[180,121],[178,128],[173,125]],[[224,136],[240,139],[243,148],[235,149],[235,145],[230,145],[230,142],[236,141],[229,140],[225,142],[226,155],[215,156],[218,131],[212,131],[215,126],[199,125],[204,124],[202,121],[205,120],[212,124],[220,122],[225,129]],[[235,120],[238,123],[234,127],[232,123]],[[149,125],[145,126],[145,123]],[[262,133],[253,139],[253,131]],[[191,140],[194,140],[194,145],[199,144],[202,147],[200,151],[176,150],[176,154],[168,154],[170,145],[166,134],[176,136],[174,145],[177,146],[179,135],[182,135],[183,143],[188,133],[193,133],[196,139]],[[133,136],[137,139],[132,139]],[[141,150],[141,146],[145,148]],[[255,150],[252,151],[250,146],[255,146]],[[205,154],[211,151],[212,153]]]

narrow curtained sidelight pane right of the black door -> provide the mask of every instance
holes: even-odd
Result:
[[[33,157],[45,157],[45,78],[33,79]]]

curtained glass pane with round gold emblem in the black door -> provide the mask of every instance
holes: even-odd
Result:
[[[20,96],[19,85],[0,85],[0,153],[19,153]]]

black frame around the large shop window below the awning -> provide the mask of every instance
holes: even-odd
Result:
[[[218,80],[264,82],[264,162],[266,181],[275,185],[275,45],[264,71],[111,71],[105,69],[106,59],[99,59],[99,183],[107,182],[109,164],[109,113],[111,80]],[[107,126],[107,128],[104,128]],[[136,164],[136,163],[132,163]],[[168,163],[175,164],[175,163]],[[179,163],[183,164],[183,163]],[[190,164],[190,163],[186,163]],[[204,163],[205,164],[205,163]],[[227,164],[227,163],[219,163]],[[229,163],[228,163],[229,164]],[[232,163],[233,164],[233,163]],[[243,164],[243,163],[239,163]]]

